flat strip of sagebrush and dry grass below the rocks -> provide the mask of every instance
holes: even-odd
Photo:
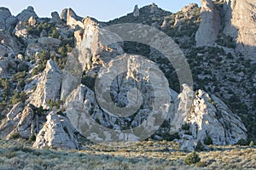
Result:
[[[113,144],[118,145],[118,144]],[[143,141],[129,147],[89,144],[85,150],[35,150],[24,141],[0,140],[0,169],[256,169],[256,148],[210,146],[201,161],[184,163],[189,154],[173,142]]]

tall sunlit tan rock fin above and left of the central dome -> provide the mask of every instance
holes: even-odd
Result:
[[[80,84],[83,71],[90,70],[93,75],[96,73],[93,68],[97,65],[104,65],[113,56],[124,54],[119,43],[108,44],[113,38],[116,40],[118,37],[113,37],[113,33],[104,32],[106,30],[102,29],[97,20],[87,17],[83,23],[84,30],[76,31],[76,49],[68,55],[61,83],[61,99],[66,98],[73,87],[76,88]]]

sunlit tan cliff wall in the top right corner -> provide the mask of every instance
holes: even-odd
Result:
[[[224,33],[237,43],[236,52],[255,60],[256,1],[226,0],[224,3]]]

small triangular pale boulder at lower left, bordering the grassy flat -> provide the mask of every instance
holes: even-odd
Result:
[[[61,148],[62,150],[79,149],[75,129],[67,120],[67,117],[50,112],[46,116],[47,121],[38,133],[33,144],[35,148]]]

